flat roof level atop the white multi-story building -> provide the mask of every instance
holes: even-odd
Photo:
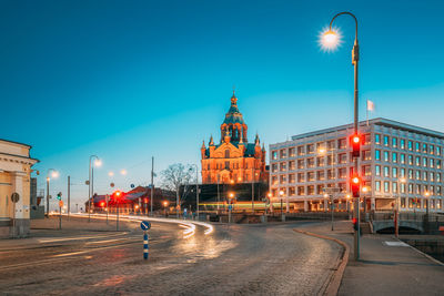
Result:
[[[360,126],[365,126],[366,124],[367,124],[366,121],[360,122]],[[412,124],[406,124],[406,123],[402,123],[402,122],[397,122],[397,121],[393,121],[393,120],[387,120],[387,119],[383,119],[383,118],[370,120],[369,125],[372,125],[372,124],[387,126],[387,127],[394,127],[394,129],[413,132],[413,133],[421,133],[421,134],[440,137],[440,139],[444,140],[444,133],[442,133],[442,132],[437,132],[437,131],[433,131],[433,130],[428,130],[428,129],[424,129],[424,127],[420,127],[420,126],[415,126]],[[292,140],[294,141],[294,140],[304,139],[304,137],[309,137],[309,136],[315,136],[315,135],[320,135],[320,134],[326,134],[326,133],[332,133],[332,132],[336,132],[336,131],[353,129],[353,126],[354,126],[353,123],[350,123],[350,124],[339,125],[339,126],[334,126],[334,127],[317,130],[314,132],[293,135]]]

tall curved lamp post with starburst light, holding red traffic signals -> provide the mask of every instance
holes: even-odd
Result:
[[[335,14],[333,19],[330,21],[330,30],[323,34],[322,44],[326,49],[333,49],[337,45],[339,34],[333,31],[332,24],[337,17],[343,14],[352,17],[355,21],[355,39],[352,50],[352,64],[354,65],[354,133],[357,134],[359,132],[357,65],[360,60],[360,45],[357,42],[356,17],[349,11],[343,11]],[[357,172],[359,172],[359,156],[354,156],[354,173],[357,174]],[[354,232],[354,259],[357,261],[360,258],[360,197],[359,196],[356,196],[355,198],[355,217],[356,217],[357,229]]]

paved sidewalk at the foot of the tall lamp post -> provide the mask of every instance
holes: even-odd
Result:
[[[351,222],[305,225],[297,229],[334,237],[350,246],[339,295],[443,295],[444,265],[434,262],[393,235],[361,236],[361,258],[353,259]],[[389,242],[389,244],[386,243]],[[391,245],[394,243],[395,245]]]

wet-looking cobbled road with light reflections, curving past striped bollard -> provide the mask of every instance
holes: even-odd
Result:
[[[342,249],[293,232],[297,225],[185,226],[152,223],[150,258],[142,232],[83,233],[0,242],[2,295],[317,295]],[[69,239],[65,239],[69,238]]]

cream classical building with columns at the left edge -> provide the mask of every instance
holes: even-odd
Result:
[[[30,149],[26,144],[0,140],[0,237],[29,234],[31,167],[38,162],[31,159]],[[13,193],[19,194],[16,204],[11,201]]]

